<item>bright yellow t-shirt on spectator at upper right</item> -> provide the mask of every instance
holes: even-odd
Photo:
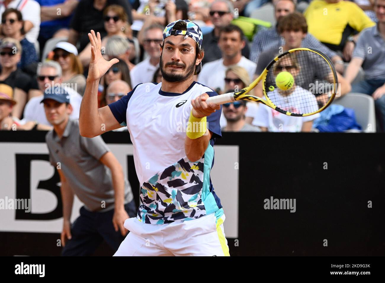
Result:
[[[353,30],[360,32],[375,25],[355,3],[343,0],[338,3],[313,0],[304,15],[308,32],[320,42],[335,45],[332,49],[341,49]]]

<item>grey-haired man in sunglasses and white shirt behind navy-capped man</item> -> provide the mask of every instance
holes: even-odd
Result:
[[[44,113],[44,106],[40,103],[43,95],[47,92],[52,92],[52,85],[62,84],[62,68],[59,63],[54,61],[46,61],[40,63],[37,67],[37,83],[42,92],[41,95],[32,97],[24,108],[23,122],[35,121],[35,123],[51,126],[50,122]],[[69,94],[69,100],[72,105],[71,119],[79,119],[80,103],[82,96],[72,90],[70,87],[63,87]],[[38,127],[39,129],[39,127]]]

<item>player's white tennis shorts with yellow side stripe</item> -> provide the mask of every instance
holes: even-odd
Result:
[[[129,218],[130,231],[114,256],[230,256],[224,235],[224,214],[169,224],[146,224]]]

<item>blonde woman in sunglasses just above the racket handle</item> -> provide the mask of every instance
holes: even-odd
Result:
[[[235,92],[243,89],[244,87],[248,86],[250,84],[250,77],[249,73],[246,69],[244,69],[241,66],[231,66],[229,67],[225,72],[225,78],[224,78],[225,88],[227,89],[226,92]],[[253,90],[251,90],[253,92]],[[253,95],[251,93],[251,95]],[[256,102],[249,102],[246,107],[245,122],[247,124],[251,124],[251,121],[253,121],[253,118],[255,116],[255,112],[258,109],[258,104]],[[227,121],[224,116],[224,109],[222,111],[220,124],[221,127],[227,126]]]

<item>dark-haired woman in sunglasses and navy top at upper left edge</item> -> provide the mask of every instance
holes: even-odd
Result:
[[[17,9],[8,8],[2,13],[1,20],[2,35],[18,40],[22,47],[22,57],[17,67],[24,69],[28,65],[38,62],[35,45],[29,42],[22,33],[24,24],[22,13]]]

